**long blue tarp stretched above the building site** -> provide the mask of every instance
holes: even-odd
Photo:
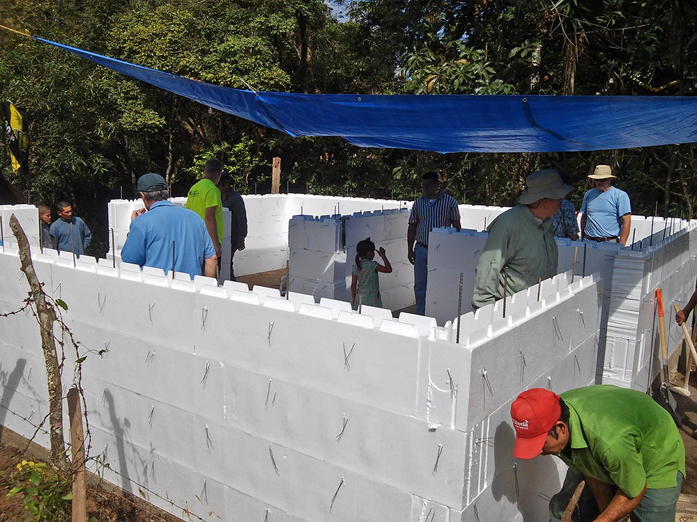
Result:
[[[255,93],[36,40],[291,136],[361,147],[562,152],[697,141],[697,97]]]

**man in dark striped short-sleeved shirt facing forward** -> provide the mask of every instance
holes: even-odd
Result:
[[[415,200],[406,232],[409,262],[414,265],[416,313],[426,314],[426,283],[429,261],[429,232],[432,228],[454,226],[460,230],[457,201],[441,190],[438,174],[427,172],[421,177],[423,196]]]

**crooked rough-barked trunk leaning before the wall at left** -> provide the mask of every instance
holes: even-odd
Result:
[[[41,347],[46,363],[46,377],[48,381],[49,397],[49,434],[51,438],[51,459],[61,470],[68,469],[66,459],[66,445],[63,443],[63,404],[61,397],[61,366],[58,363],[56,342],[54,340],[53,324],[56,320],[56,312],[46,301],[46,294],[41,283],[36,277],[33,264],[31,264],[31,252],[29,242],[26,240],[24,230],[20,226],[15,214],[10,216],[10,228],[17,238],[20,251],[20,262],[26,281],[31,289],[31,297],[36,306],[39,327],[41,330]]]

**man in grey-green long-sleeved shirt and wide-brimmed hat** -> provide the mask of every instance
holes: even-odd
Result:
[[[491,222],[489,237],[477,262],[472,308],[503,299],[557,273],[557,244],[551,216],[574,187],[553,169],[526,179],[518,205]],[[504,290],[505,289],[505,290]]]

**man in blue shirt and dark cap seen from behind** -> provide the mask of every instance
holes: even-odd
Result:
[[[133,212],[121,260],[142,267],[172,269],[215,278],[217,256],[206,223],[192,210],[169,202],[167,182],[148,173],[138,180],[145,208]]]

